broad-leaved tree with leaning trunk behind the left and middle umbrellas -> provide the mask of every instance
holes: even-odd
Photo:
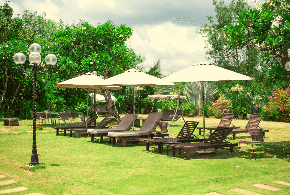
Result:
[[[56,53],[58,63],[53,70],[60,78],[68,79],[88,71],[96,70],[105,79],[109,77],[113,67],[127,66],[132,62],[125,45],[133,29],[126,25],[115,26],[110,22],[94,27],[85,22],[82,28],[73,29],[67,26],[64,30],[53,35],[55,44],[47,44],[46,49]],[[101,90],[98,94],[106,99],[106,110],[114,117],[118,113],[111,108],[109,90]],[[108,98],[107,98],[108,97]]]

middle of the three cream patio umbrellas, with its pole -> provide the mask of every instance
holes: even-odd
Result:
[[[133,131],[134,131],[134,86],[164,86],[174,85],[172,82],[163,82],[161,79],[131,68],[124,73],[105,79],[106,86],[132,87],[133,91]]]

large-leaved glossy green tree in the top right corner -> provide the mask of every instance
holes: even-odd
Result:
[[[289,81],[285,70],[290,47],[290,0],[267,0],[258,9],[241,12],[222,28],[231,48],[252,48],[264,61],[272,62],[268,75],[272,83]]]

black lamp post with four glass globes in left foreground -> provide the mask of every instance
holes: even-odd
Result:
[[[40,74],[47,73],[50,70],[50,67],[53,66],[57,59],[56,56],[53,54],[48,54],[45,57],[45,63],[48,66],[47,70],[39,70],[39,67],[42,67],[40,65],[41,62],[41,46],[37,43],[31,44],[29,47],[29,62],[32,66],[32,71],[28,72],[24,70],[21,66],[24,64],[26,61],[26,57],[23,53],[18,52],[14,55],[13,59],[14,62],[19,65],[20,70],[22,70],[24,73],[33,73],[33,136],[32,136],[32,155],[31,155],[31,161],[28,167],[34,167],[35,165],[39,165],[38,162],[38,154],[37,154],[37,149],[36,149],[36,72]]]

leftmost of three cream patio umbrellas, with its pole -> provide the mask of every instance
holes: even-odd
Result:
[[[89,105],[89,89],[113,89],[120,90],[122,87],[118,86],[104,86],[105,80],[95,76],[93,73],[85,73],[84,75],[54,84],[56,88],[86,88],[87,89],[87,118]],[[86,125],[87,127],[87,125]]]

